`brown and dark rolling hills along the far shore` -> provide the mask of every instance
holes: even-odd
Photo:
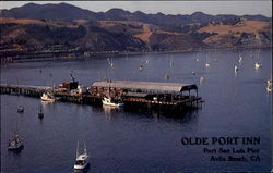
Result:
[[[1,10],[0,26],[1,58],[272,46],[271,18],[262,15],[95,13],[67,3],[28,3]]]

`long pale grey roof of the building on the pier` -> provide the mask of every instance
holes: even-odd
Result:
[[[115,87],[132,90],[153,90],[164,92],[179,92],[182,90],[197,89],[194,84],[185,83],[153,83],[133,81],[100,81],[92,84],[93,87]]]

